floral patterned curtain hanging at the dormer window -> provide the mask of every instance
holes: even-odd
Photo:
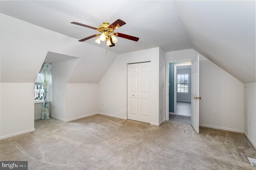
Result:
[[[50,74],[51,74],[51,64],[44,63],[42,65],[42,68],[40,70],[40,73],[43,75],[43,88],[44,88],[44,104],[42,109],[42,120],[49,119],[49,108],[48,108],[48,101],[47,101],[47,95],[48,95],[48,84],[50,81]]]

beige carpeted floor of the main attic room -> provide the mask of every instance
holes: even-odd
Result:
[[[0,141],[0,160],[28,160],[29,170],[255,170],[246,156],[256,150],[242,133],[103,115],[37,120],[35,128]]]

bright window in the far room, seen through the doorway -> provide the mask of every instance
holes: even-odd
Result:
[[[177,92],[188,93],[188,74],[177,74]]]

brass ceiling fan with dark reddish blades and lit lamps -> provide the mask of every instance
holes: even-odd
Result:
[[[95,40],[96,43],[100,44],[100,41],[106,41],[106,45],[109,45],[109,47],[114,47],[115,46],[114,43],[116,43],[118,41],[116,39],[116,37],[126,38],[126,39],[130,39],[132,41],[138,41],[139,40],[138,37],[134,37],[134,36],[131,36],[131,35],[126,35],[126,34],[114,32],[115,29],[117,29],[117,28],[121,27],[122,25],[126,24],[124,21],[122,21],[120,19],[114,21],[111,25],[108,22],[103,22],[101,25],[99,25],[98,28],[91,27],[89,25],[84,25],[84,24],[78,23],[78,22],[71,22],[71,23],[76,24],[76,25],[80,25],[80,26],[83,26],[83,27],[95,29],[95,30],[101,32],[101,33],[86,37],[84,39],[80,39],[79,40],[80,42],[83,42],[83,41],[86,41],[88,39],[91,39],[93,37],[98,36],[98,38]]]

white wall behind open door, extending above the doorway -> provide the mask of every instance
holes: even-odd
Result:
[[[166,61],[193,59],[193,49],[166,53]],[[200,55],[200,126],[243,133],[244,87],[242,82]],[[212,111],[217,111],[213,116]]]

